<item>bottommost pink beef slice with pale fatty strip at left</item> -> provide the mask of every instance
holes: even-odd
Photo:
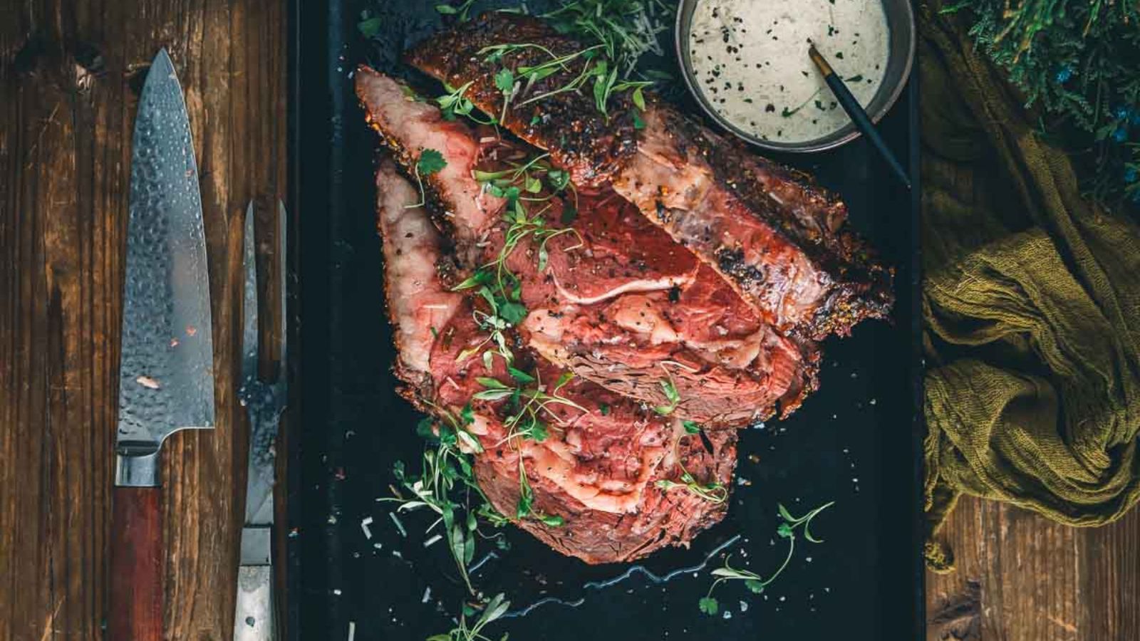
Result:
[[[477,399],[490,381],[516,386],[502,358],[464,358],[483,343],[472,300],[456,294],[434,273],[443,238],[420,194],[390,163],[377,172],[378,227],[383,237],[388,306],[396,325],[397,374],[405,393],[425,412],[458,415],[471,407],[465,430],[479,444],[474,473],[492,506],[555,550],[591,563],[636,559],[666,545],[687,544],[724,516],[725,494],[710,501],[682,474],[703,486],[727,487],[735,464],[734,430],[709,430],[708,446],[666,417],[592,382],[515,351],[514,365],[530,372],[551,396],[540,411],[542,438],[508,428],[518,405],[510,398]],[[545,383],[543,383],[545,381]],[[561,384],[555,381],[561,381]],[[523,479],[530,513],[515,518]],[[659,481],[674,481],[660,484]],[[561,525],[551,525],[554,518]]]

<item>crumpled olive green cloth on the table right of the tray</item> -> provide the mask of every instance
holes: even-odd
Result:
[[[1140,229],[1083,200],[962,17],[919,10],[928,566],[961,494],[1074,526],[1140,498]]]

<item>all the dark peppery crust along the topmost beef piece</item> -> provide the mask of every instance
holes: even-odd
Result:
[[[484,112],[498,113],[503,96],[495,87],[495,72],[502,66],[518,68],[549,60],[540,49],[528,48],[505,56],[500,63],[486,62],[486,48],[518,42],[542,44],[556,55],[583,49],[542,21],[489,13],[414,47],[407,59],[451,86],[471,82],[466,96]],[[588,91],[562,92],[519,106],[528,96],[564,87],[584,64],[576,60],[569,71],[555,73],[536,83],[526,96],[516,97],[504,124],[524,140],[549,151],[580,186],[597,186],[619,178],[621,169],[636,154],[638,140],[646,135],[632,127],[628,92],[611,97],[609,120],[597,111]],[[763,303],[757,307],[759,311],[781,331],[811,339],[847,334],[864,318],[887,316],[894,302],[894,270],[879,265],[871,248],[845,227],[846,208],[834,195],[800,172],[756,156],[739,141],[726,141],[676,109],[652,98],[649,102],[650,109],[667,120],[666,131],[682,154],[707,162],[716,180],[727,186],[758,224],[793,243],[826,275],[828,282],[822,283],[826,292],[821,300],[812,301],[813,309],[806,317],[783,323],[779,313],[764,309]],[[684,213],[661,205],[656,212],[645,211],[644,205],[642,209],[650,218],[657,216],[665,227],[675,224],[670,218]],[[785,276],[781,269],[766,269],[763,259],[744,260],[739,248],[722,246],[698,253],[754,305],[757,305],[756,292],[766,290],[769,279]]]

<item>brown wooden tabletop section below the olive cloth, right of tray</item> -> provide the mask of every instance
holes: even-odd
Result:
[[[1140,512],[1082,529],[962,498],[940,538],[958,570],[927,575],[929,641],[1140,639]]]

